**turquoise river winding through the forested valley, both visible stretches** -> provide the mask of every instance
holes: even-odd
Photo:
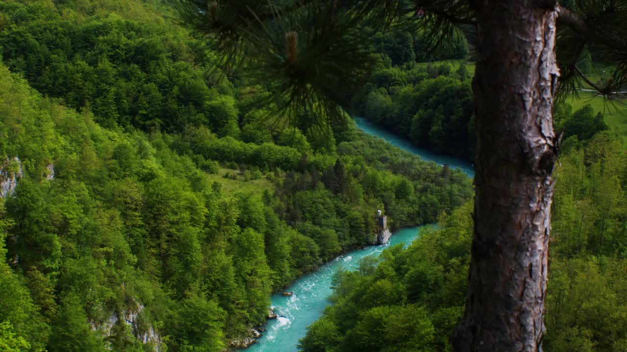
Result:
[[[355,118],[357,127],[366,133],[381,137],[386,142],[396,145],[399,148],[408,150],[424,160],[431,160],[441,165],[447,163],[450,167],[460,168],[469,177],[472,177],[472,165],[456,158],[436,155],[428,150],[417,148],[412,143],[396,137],[382,128],[376,127],[364,118]],[[279,318],[269,320],[263,328],[263,336],[257,340],[246,352],[295,352],[297,351],[298,339],[305,336],[307,326],[322,314],[325,306],[329,304],[327,298],[330,296],[331,280],[337,269],[348,270],[357,269],[359,261],[363,257],[376,256],[387,246],[404,243],[408,245],[418,236],[419,227],[409,227],[399,229],[393,233],[388,244],[383,246],[371,246],[366,249],[348,252],[343,256],[327,262],[317,271],[300,277],[293,282],[286,291],[292,291],[293,295],[284,297],[282,294],[275,294],[271,298],[271,305]]]

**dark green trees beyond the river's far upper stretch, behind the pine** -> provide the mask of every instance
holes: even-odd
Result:
[[[427,61],[418,57],[419,41],[411,41],[409,34],[405,39],[381,38],[385,40],[377,38],[380,54],[371,79],[353,95],[355,113],[419,147],[472,162],[477,143],[471,87],[474,66],[466,62],[472,58],[466,39],[457,38],[448,52],[429,58],[428,63],[416,63]],[[590,65],[584,70],[593,73]],[[564,132],[564,138],[577,135],[588,139],[608,129],[601,111],[594,111],[590,103],[584,100],[584,106],[576,111],[569,103],[558,103],[556,131]],[[606,110],[616,112],[618,108],[608,106]]]

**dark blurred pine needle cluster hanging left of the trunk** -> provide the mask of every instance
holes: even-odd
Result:
[[[221,68],[272,92],[255,102],[272,107],[268,119],[292,125],[296,116],[316,116],[308,124],[317,127],[343,118],[350,91],[374,65],[372,35],[396,30],[408,12],[402,1],[382,0],[179,0],[176,7],[182,23],[224,53]]]

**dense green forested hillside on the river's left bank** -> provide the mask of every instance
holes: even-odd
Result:
[[[303,111],[157,2],[0,2],[0,349],[222,351],[271,292],[472,197],[426,163]],[[6,185],[6,187],[5,187]]]

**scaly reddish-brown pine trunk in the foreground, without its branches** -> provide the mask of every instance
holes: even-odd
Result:
[[[475,0],[475,231],[455,349],[541,351],[556,159],[555,1]]]

